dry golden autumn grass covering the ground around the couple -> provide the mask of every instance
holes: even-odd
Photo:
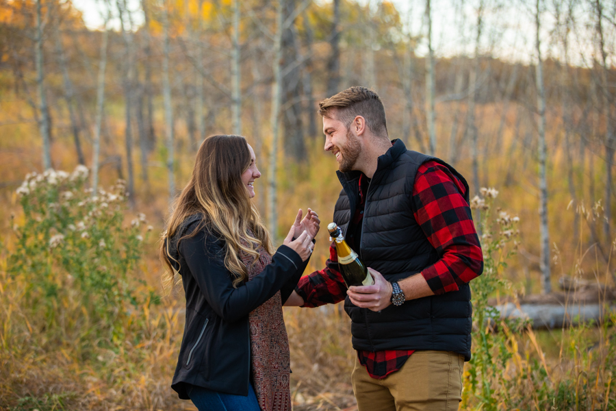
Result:
[[[441,105],[441,117],[448,118],[450,107]],[[480,122],[480,133],[488,135],[498,127],[498,117],[490,120],[498,110],[485,110]],[[515,113],[511,108],[511,120],[506,123],[504,141],[498,153],[482,162],[483,184],[499,186],[499,203],[520,216],[521,251],[509,260],[509,267],[502,269],[502,276],[509,279],[509,292],[539,292],[538,200],[535,163],[532,147],[521,147],[508,155],[509,146],[515,137]],[[121,112],[121,110],[110,110]],[[3,134],[12,138],[0,140],[0,173],[3,182],[19,184],[23,176],[40,164],[40,151],[36,125],[21,122],[5,125],[12,119],[29,119],[31,112],[23,102],[0,107],[0,123]],[[120,118],[121,115],[118,116]],[[548,127],[555,130],[548,135],[550,145],[556,140],[559,128],[556,119],[548,119]],[[110,118],[111,141],[107,142],[105,154],[123,153],[123,127],[114,117]],[[157,123],[158,130],[162,124]],[[222,127],[219,127],[222,128]],[[224,131],[222,129],[216,131]],[[264,130],[265,131],[265,130]],[[447,133],[444,133],[447,134]],[[161,134],[159,134],[161,135]],[[266,135],[262,133],[262,135]],[[447,147],[443,138],[439,147]],[[180,140],[186,138],[180,135]],[[87,146],[87,145],[86,145]],[[412,148],[412,144],[409,145]],[[552,147],[552,146],[550,146]],[[264,149],[267,149],[264,147]],[[86,158],[89,153],[86,147]],[[448,153],[439,153],[444,158]],[[279,174],[279,235],[286,231],[297,208],[311,206],[317,210],[324,223],[329,222],[333,205],[339,192],[335,177],[335,162],[331,155],[322,153],[322,141],[317,138],[308,149],[309,166],[290,164],[281,158]],[[72,169],[75,165],[73,147],[68,134],[57,134],[53,145],[54,165],[57,169]],[[530,158],[530,160],[529,160]],[[135,157],[136,159],[136,157]],[[598,216],[587,214],[580,223],[580,238],[572,240],[574,210],[567,210],[569,193],[565,180],[564,155],[560,149],[550,153],[552,163],[548,175],[550,186],[550,230],[552,241],[560,253],[554,266],[556,273],[573,275],[598,282],[611,282],[607,264],[592,246],[589,225],[600,221]],[[153,221],[155,232],[162,230],[167,209],[166,171],[164,153],[155,151],[150,158],[150,182],[137,180],[137,209],[145,212]],[[261,171],[267,165],[262,155]],[[136,162],[137,163],[137,162]],[[139,165],[136,164],[136,176]],[[181,184],[192,168],[192,153],[182,151],[178,156],[177,182]],[[472,175],[467,149],[461,149],[457,169],[464,175]],[[502,186],[508,171],[515,170],[511,185]],[[578,196],[588,198],[591,181],[596,192],[602,192],[603,182],[599,166],[596,175],[587,175],[582,164],[576,164]],[[113,182],[118,175],[110,166],[101,171],[103,185]],[[11,213],[21,221],[14,186],[0,189],[0,410],[182,410],[193,409],[188,401],[179,401],[169,388],[175,369],[177,350],[183,329],[181,308],[183,300],[177,295],[165,297],[159,305],[142,303],[134,308],[123,325],[124,339],[116,349],[93,344],[79,347],[77,324],[88,332],[99,327],[88,322],[81,307],[75,301],[60,301],[58,318],[64,331],[50,338],[49,323],[25,304],[27,288],[23,277],[8,275],[8,256],[15,248],[15,238],[10,234]],[[266,192],[264,179],[257,181],[257,201],[262,205]],[[262,201],[262,202],[261,202]],[[587,210],[592,206],[587,200]],[[262,215],[265,215],[261,207]],[[129,212],[134,214],[134,211]],[[610,250],[611,242],[602,239],[604,249]],[[144,260],[134,275],[145,279],[146,284],[136,284],[144,292],[159,293],[160,267],[155,256],[155,240],[144,243]],[[326,235],[320,234],[309,271],[324,265],[329,251]],[[527,286],[528,285],[528,286]],[[556,284],[554,283],[554,286]],[[352,410],[355,400],[350,386],[350,372],[355,352],[350,347],[350,324],[341,306],[303,310],[285,309],[285,321],[292,353],[292,395],[296,410]],[[548,398],[560,401],[561,408],[571,410],[615,410],[613,376],[616,345],[613,316],[607,317],[602,327],[584,326],[574,329],[549,332],[523,333],[504,332],[502,347],[492,347],[494,358],[498,352],[506,354],[506,362],[498,365],[498,378],[489,377],[494,384],[498,409],[506,409],[505,403],[517,403],[519,409],[544,410]],[[69,332],[70,331],[70,332]],[[64,333],[64,334],[63,334]],[[60,335],[62,338],[57,338]],[[95,341],[95,343],[97,343]],[[474,345],[478,347],[478,345]],[[480,406],[476,395],[471,393],[470,364],[465,367],[464,409]],[[550,397],[551,396],[551,397]],[[609,401],[607,400],[609,399]],[[611,402],[610,402],[611,401]],[[556,403],[556,402],[554,402]],[[568,404],[566,406],[562,404]],[[553,404],[550,407],[554,406]],[[483,408],[488,409],[488,408]]]

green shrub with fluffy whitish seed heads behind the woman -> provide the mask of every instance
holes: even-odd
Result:
[[[14,221],[8,274],[22,277],[15,284],[24,306],[44,318],[47,339],[112,347],[123,341],[127,316],[149,297],[133,271],[151,227],[144,214],[124,224],[122,180],[92,195],[87,177],[85,166],[27,175],[17,190],[23,217]]]

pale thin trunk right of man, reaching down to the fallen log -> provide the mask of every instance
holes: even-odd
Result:
[[[543,292],[552,291],[550,283],[550,233],[548,231],[548,182],[546,177],[546,92],[543,89],[543,61],[541,60],[541,0],[535,8],[535,51],[537,52],[537,113],[539,114],[539,218],[541,220],[541,260],[539,266],[543,275]]]

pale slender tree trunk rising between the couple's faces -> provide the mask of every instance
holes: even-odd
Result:
[[[278,238],[278,213],[277,206],[277,155],[279,149],[279,112],[280,112],[280,88],[281,88],[281,60],[282,60],[282,34],[283,34],[283,0],[277,2],[276,7],[276,34],[274,35],[274,82],[272,83],[272,144],[270,146],[270,168],[268,171],[268,225],[272,239]]]

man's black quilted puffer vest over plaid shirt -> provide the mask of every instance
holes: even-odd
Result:
[[[359,256],[388,281],[417,274],[441,258],[422,227],[413,217],[411,196],[420,165],[434,160],[447,166],[466,188],[468,184],[442,160],[409,151],[401,140],[378,158],[376,172],[366,193]],[[359,171],[338,172],[343,190],[334,210],[334,222],[346,235],[351,210],[359,201]],[[454,351],[470,360],[472,306],[470,287],[406,301],[381,312],[359,308],[346,297],[344,309],[350,316],[355,349],[383,351],[416,349]]]

